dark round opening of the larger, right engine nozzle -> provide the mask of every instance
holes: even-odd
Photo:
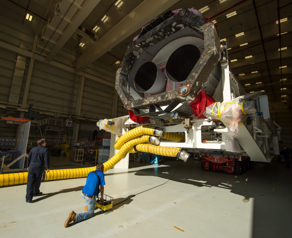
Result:
[[[185,81],[200,57],[201,52],[197,46],[190,44],[180,46],[167,60],[167,77],[174,82]]]

